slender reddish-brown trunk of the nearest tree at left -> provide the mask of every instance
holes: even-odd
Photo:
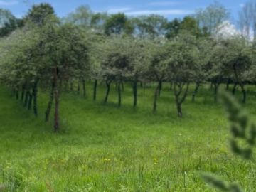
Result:
[[[55,113],[54,113],[54,132],[58,132],[60,129],[60,115],[59,115],[59,102],[60,95],[58,91],[58,68],[54,70],[54,95],[55,95]]]

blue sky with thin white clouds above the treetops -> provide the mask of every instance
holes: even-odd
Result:
[[[108,11],[110,14],[124,12],[129,16],[138,14],[161,14],[169,19],[182,18],[199,8],[205,8],[212,0],[0,0],[0,7],[9,9],[15,16],[21,17],[32,4],[48,2],[52,4],[58,16],[65,16],[80,5],[88,5],[92,11]],[[238,10],[246,0],[220,0],[231,13],[233,21]]]

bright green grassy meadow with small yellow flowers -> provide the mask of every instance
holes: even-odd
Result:
[[[248,92],[245,107],[255,119],[254,87]],[[48,95],[39,95],[36,118],[1,87],[0,186],[5,191],[214,191],[201,180],[202,171],[210,171],[256,191],[255,161],[229,151],[228,122],[208,86],[194,103],[190,93],[183,119],[168,85],[157,114],[151,112],[151,87],[139,90],[137,110],[129,85],[120,108],[114,87],[107,105],[104,93],[100,87],[97,102],[91,85],[86,99],[63,94],[63,132],[54,134],[52,123],[43,122]]]

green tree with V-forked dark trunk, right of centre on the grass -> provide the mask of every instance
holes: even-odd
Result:
[[[199,50],[196,37],[183,33],[168,44],[168,79],[174,82],[174,97],[178,117],[182,117],[181,106],[188,95],[188,88],[196,78]]]

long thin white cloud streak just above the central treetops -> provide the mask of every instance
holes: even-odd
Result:
[[[159,15],[169,16],[169,15],[186,15],[186,14],[192,14],[192,13],[193,11],[191,10],[183,10],[183,9],[140,10],[140,11],[125,12],[125,14],[130,16],[149,15],[149,14],[159,14]]]

